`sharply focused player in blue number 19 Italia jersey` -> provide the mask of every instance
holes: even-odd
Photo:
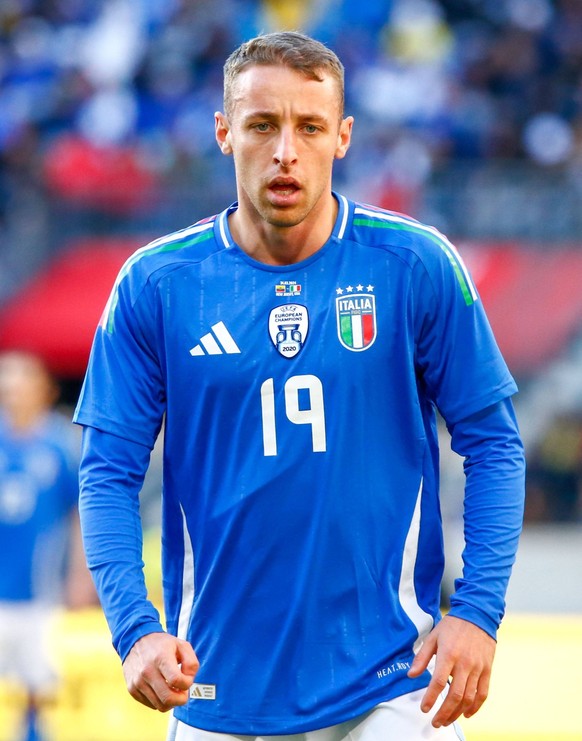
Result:
[[[215,130],[238,200],[136,252],[95,337],[86,552],[171,741],[444,741],[487,695],[522,520],[516,386],[453,245],[332,191],[343,108],[319,42],[234,51]],[[466,470],[443,618],[436,408]],[[138,509],[162,424],[167,632]]]

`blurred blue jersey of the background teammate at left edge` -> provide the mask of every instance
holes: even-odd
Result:
[[[0,419],[0,601],[60,597],[78,457],[63,415],[27,431]]]

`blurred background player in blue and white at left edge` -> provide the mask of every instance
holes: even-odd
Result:
[[[56,399],[39,358],[0,356],[0,676],[26,692],[26,741],[43,738],[38,713],[57,685],[47,645],[55,608],[83,599],[77,587],[86,595],[89,583],[80,568],[79,444]]]

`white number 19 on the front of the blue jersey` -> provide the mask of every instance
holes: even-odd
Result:
[[[299,392],[309,392],[309,408],[299,408]],[[263,417],[263,452],[277,455],[277,427],[275,423],[275,382],[268,378],[261,386]],[[325,411],[323,386],[316,376],[291,376],[285,383],[285,414],[295,425],[311,425],[314,453],[325,453]]]

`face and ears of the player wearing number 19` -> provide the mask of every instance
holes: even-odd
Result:
[[[253,65],[237,77],[216,138],[234,157],[239,210],[291,227],[331,208],[334,159],[345,156],[353,119],[340,121],[337,81],[320,82],[284,66]]]

